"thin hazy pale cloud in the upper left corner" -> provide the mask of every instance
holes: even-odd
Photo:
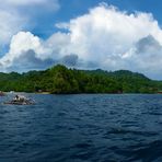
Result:
[[[13,35],[32,28],[37,14],[59,9],[58,0],[4,0],[0,3],[0,47],[8,45]],[[34,12],[33,12],[34,11]],[[36,14],[37,13],[37,14]],[[32,25],[31,25],[32,24]],[[34,25],[33,25],[34,24]]]

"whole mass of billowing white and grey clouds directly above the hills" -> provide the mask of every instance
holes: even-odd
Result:
[[[151,13],[100,4],[56,26],[60,32],[47,39],[30,32],[15,34],[0,68],[26,71],[61,62],[84,69],[128,69],[162,79],[162,30]]]

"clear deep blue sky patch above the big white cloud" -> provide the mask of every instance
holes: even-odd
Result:
[[[57,12],[46,13],[43,19],[38,16],[36,19],[38,23],[32,28],[32,32],[46,38],[58,30],[54,27],[55,23],[68,22],[70,19],[86,13],[89,9],[96,7],[102,2],[113,4],[127,12],[143,11],[152,13],[159,21],[159,24],[162,24],[162,1],[160,0],[68,0],[68,2],[67,0],[60,0],[60,9]],[[42,23],[44,23],[44,25],[39,25]]]

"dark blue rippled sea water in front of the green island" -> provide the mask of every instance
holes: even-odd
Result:
[[[162,161],[162,95],[30,95],[0,105],[0,162]]]

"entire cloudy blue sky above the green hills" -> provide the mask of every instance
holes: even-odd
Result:
[[[5,0],[0,71],[131,70],[162,80],[162,1]]]

